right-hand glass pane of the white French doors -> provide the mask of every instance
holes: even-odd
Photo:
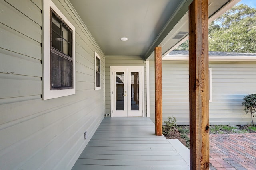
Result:
[[[131,110],[139,110],[139,72],[131,72]]]

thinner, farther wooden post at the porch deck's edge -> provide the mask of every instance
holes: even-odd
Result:
[[[162,136],[162,47],[155,48],[155,122],[156,135]]]

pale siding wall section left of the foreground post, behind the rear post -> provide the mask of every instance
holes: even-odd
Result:
[[[188,62],[162,61],[163,121],[176,117],[178,124],[189,122]],[[150,62],[150,117],[154,121],[154,62]]]

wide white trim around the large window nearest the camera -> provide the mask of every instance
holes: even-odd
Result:
[[[51,0],[43,0],[43,39],[42,39],[42,100],[58,98],[76,94],[76,58],[75,58],[75,27],[68,21],[68,19],[60,12]],[[72,53],[73,53],[73,88],[50,90],[50,7],[60,16],[60,18],[72,29]]]

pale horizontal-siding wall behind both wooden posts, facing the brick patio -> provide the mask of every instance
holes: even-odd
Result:
[[[256,61],[210,61],[212,102],[210,124],[244,125],[251,121],[242,101],[256,93]],[[163,121],[176,117],[178,125],[189,124],[188,61],[162,61]],[[154,62],[150,62],[150,117],[154,121]]]

